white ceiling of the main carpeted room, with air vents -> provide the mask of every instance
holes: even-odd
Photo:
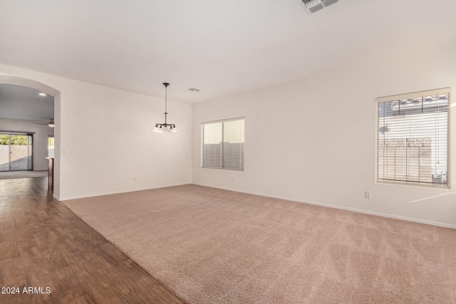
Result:
[[[185,103],[456,41],[455,0],[1,1],[0,63]],[[188,88],[202,91],[190,93]]]

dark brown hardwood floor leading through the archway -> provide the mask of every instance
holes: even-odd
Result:
[[[53,199],[46,179],[0,180],[0,303],[183,303]]]

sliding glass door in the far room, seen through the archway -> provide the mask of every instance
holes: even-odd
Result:
[[[0,171],[32,169],[32,136],[0,134]]]

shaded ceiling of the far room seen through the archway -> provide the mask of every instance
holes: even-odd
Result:
[[[54,118],[54,98],[21,85],[0,84],[0,118],[49,122]]]

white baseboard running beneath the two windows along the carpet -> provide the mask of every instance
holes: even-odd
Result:
[[[239,190],[239,189],[230,189],[230,188],[226,188],[226,187],[215,187],[215,186],[212,186],[212,185],[209,185],[209,184],[197,184],[197,183],[192,183],[192,184],[196,184],[196,185],[204,186],[204,187],[224,189],[224,190],[229,190],[229,191],[233,191],[233,192],[241,192],[241,193],[254,194],[254,195],[259,195],[259,196],[272,197],[274,199],[285,199],[286,201],[297,201],[299,203],[324,206],[324,207],[329,207],[329,208],[334,208],[334,209],[341,209],[341,210],[346,210],[346,211],[353,211],[353,212],[358,212],[358,213],[362,213],[362,214],[371,214],[371,215],[376,215],[376,216],[383,216],[383,217],[388,217],[390,219],[400,219],[400,220],[403,220],[403,221],[414,221],[415,223],[420,223],[420,224],[428,224],[428,225],[433,225],[433,226],[456,229],[456,225],[440,223],[440,222],[437,222],[437,221],[425,221],[423,219],[413,219],[413,218],[406,217],[406,216],[396,216],[394,214],[383,214],[383,213],[375,212],[375,211],[368,211],[368,210],[363,210],[363,209],[355,209],[355,208],[349,208],[349,207],[344,207],[344,206],[325,204],[325,203],[321,203],[319,201],[305,201],[304,199],[294,199],[294,198],[285,197],[285,196],[264,194],[264,193],[259,193],[259,192],[243,191],[243,190]]]

